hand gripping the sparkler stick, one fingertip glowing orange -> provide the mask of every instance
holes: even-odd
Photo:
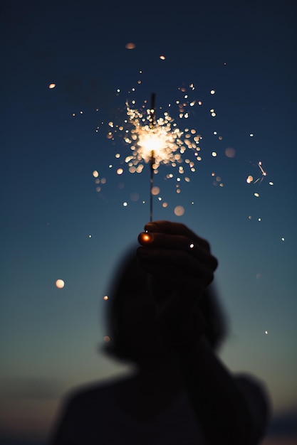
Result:
[[[217,259],[209,243],[183,224],[155,221],[145,230],[138,237],[142,247],[137,257],[152,277],[156,316],[172,330],[189,321],[199,296],[214,278]]]

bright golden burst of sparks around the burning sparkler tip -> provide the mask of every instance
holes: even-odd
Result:
[[[141,81],[137,83],[140,84]],[[160,166],[164,165],[174,169],[172,173],[165,173],[164,179],[165,181],[176,182],[175,193],[179,194],[182,190],[182,183],[191,181],[192,173],[197,171],[197,163],[202,161],[199,144],[202,136],[199,134],[197,127],[191,127],[191,124],[189,124],[189,122],[192,122],[191,118],[194,116],[196,109],[202,105],[202,101],[198,100],[198,97],[192,96],[192,92],[195,90],[192,83],[189,85],[183,84],[177,90],[179,90],[177,100],[168,103],[166,109],[163,109],[163,107],[158,108],[157,117],[155,117],[155,95],[152,95],[150,105],[147,100],[140,105],[136,103],[136,100],[127,100],[125,103],[125,117],[122,115],[118,122],[106,121],[100,124],[100,129],[103,127],[103,124],[105,127],[108,126],[107,138],[110,141],[115,143],[116,137],[120,137],[126,145],[125,154],[116,154],[115,158],[119,159],[119,161],[115,165],[109,165],[109,168],[113,168],[117,176],[122,175],[127,170],[130,173],[142,173],[145,169],[145,163],[149,163],[150,218],[152,218],[152,195],[157,194],[152,193],[152,191],[155,191],[153,181],[155,174],[161,171]],[[120,95],[120,88],[116,91],[116,95]],[[132,94],[132,92],[134,94],[135,87],[132,87],[128,94]],[[209,94],[214,95],[215,92],[215,90],[210,90]],[[120,113],[123,111],[121,108],[119,110]],[[215,116],[216,112],[214,109],[210,109],[210,119]],[[218,136],[218,139],[221,141],[223,137]],[[212,147],[212,149],[214,148]],[[230,154],[228,151],[226,156],[234,157],[234,152],[234,149],[230,149]],[[209,151],[207,149],[206,153],[211,154],[212,158],[219,156],[219,151]],[[96,188],[96,191],[101,192],[103,182],[101,178],[98,179],[98,185],[100,183],[100,186]],[[221,181],[217,180],[214,182],[216,186],[223,187]],[[122,187],[118,184],[118,187],[123,188],[124,185]],[[157,200],[160,201],[162,208],[166,208],[169,204],[163,202],[163,198],[158,196]],[[124,199],[125,203],[123,203]],[[125,207],[128,203],[126,202],[127,198],[124,199],[122,205]],[[144,202],[142,200],[142,203]],[[174,214],[180,216],[184,212],[184,208],[181,211],[179,207],[182,206],[177,206],[177,210],[174,208]]]

